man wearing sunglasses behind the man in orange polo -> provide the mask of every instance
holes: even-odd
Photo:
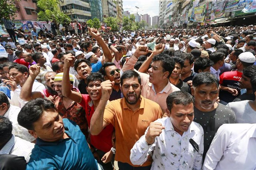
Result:
[[[123,98],[124,96],[120,89],[120,69],[116,68],[113,62],[106,62],[103,64],[100,72],[105,76],[106,80],[115,82],[109,101]]]

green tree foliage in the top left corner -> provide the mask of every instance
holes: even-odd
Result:
[[[19,2],[20,0],[18,0]],[[10,18],[16,16],[15,0],[0,0],[0,18]]]

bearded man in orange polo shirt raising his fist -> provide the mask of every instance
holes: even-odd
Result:
[[[124,98],[111,101],[106,106],[114,81],[101,83],[101,100],[91,118],[91,134],[98,135],[107,125],[115,128],[116,153],[119,170],[149,170],[152,160],[147,160],[142,167],[135,166],[129,159],[130,150],[135,142],[144,135],[150,122],[161,118],[160,106],[141,96],[140,75],[132,70],[126,71],[121,77],[121,90]]]

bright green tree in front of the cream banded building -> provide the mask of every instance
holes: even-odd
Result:
[[[64,14],[58,8],[58,0],[38,0],[37,7],[39,12],[37,13],[38,20],[41,21],[56,21],[57,24],[70,23],[70,18]]]

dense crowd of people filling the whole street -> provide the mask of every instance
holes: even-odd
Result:
[[[70,27],[0,36],[1,168],[256,169],[256,26]]]

